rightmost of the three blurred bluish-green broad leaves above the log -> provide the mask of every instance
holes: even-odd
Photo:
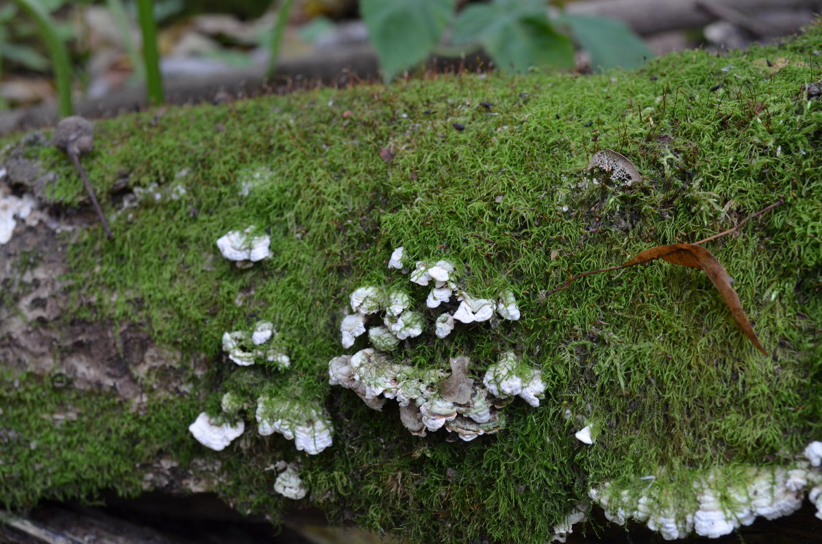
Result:
[[[564,15],[557,21],[570,27],[574,38],[591,55],[597,71],[642,66],[653,57],[650,49],[621,21],[599,16]]]

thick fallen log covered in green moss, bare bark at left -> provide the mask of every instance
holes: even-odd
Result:
[[[710,500],[725,523],[750,523],[764,515],[750,482],[788,470],[804,471],[787,488],[801,501],[819,486],[803,451],[822,439],[822,103],[806,85],[820,40],[815,26],[634,72],[428,76],[99,121],[81,160],[112,240],[48,131],[7,139],[2,205],[36,210],[0,246],[0,503],[215,491],[272,523],[313,505],[415,542],[544,542],[599,505],[617,521],[670,514],[677,534]],[[603,149],[641,179],[586,170]],[[654,262],[547,294],[779,199],[705,244],[768,355],[698,270]],[[240,268],[215,242],[247,228],[270,256]],[[510,292],[520,319],[440,338],[455,302],[427,307],[416,261],[454,265],[478,300]],[[504,426],[475,440],[413,436],[415,413],[329,383],[330,360],[369,345],[340,345],[349,295],[367,286],[401,289],[417,312],[422,334],[379,337],[395,375],[436,396],[450,358],[469,357],[469,381],[449,386],[464,396],[505,353],[544,392],[507,399]],[[243,344],[260,322],[275,352]],[[227,357],[233,331],[254,364]],[[261,436],[258,399],[261,431],[302,417],[333,427],[333,443]],[[187,431],[202,412],[247,428],[211,451]],[[280,493],[284,473],[302,498]]]

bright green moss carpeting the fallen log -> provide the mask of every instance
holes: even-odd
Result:
[[[219,410],[225,390],[251,405],[250,419],[262,391],[299,391],[325,404],[335,445],[319,455],[252,433],[214,454],[223,495],[272,519],[287,502],[263,470],[277,459],[299,459],[309,500],[332,521],[353,516],[419,542],[543,542],[601,482],[629,487],[663,471],[671,492],[686,497],[695,471],[781,463],[822,430],[822,103],[800,92],[817,77],[808,62],[820,39],[814,27],[790,44],[724,58],[679,53],[632,73],[441,76],[98,122],[97,150],[84,163],[99,194],[126,177],[129,187],[156,183],[160,197],[127,210],[106,202],[114,240],[91,228],[72,246],[77,316],[138,321],[161,343],[205,353],[213,363],[202,408]],[[769,69],[766,58],[787,65]],[[381,159],[383,148],[394,158]],[[593,183],[584,168],[603,148],[630,158],[643,182],[619,187],[598,175]],[[58,172],[54,198],[81,201],[67,159],[30,153]],[[178,185],[185,193],[173,200]],[[721,232],[778,198],[785,204],[706,244],[736,279],[772,357],[750,346],[695,270],[657,262],[545,296],[572,274]],[[238,270],[215,240],[252,224],[270,232],[274,256]],[[396,356],[447,370],[449,357],[467,354],[481,378],[500,350],[513,350],[542,369],[540,408],[512,403],[505,431],[450,443],[444,431],[409,436],[395,408],[375,413],[327,385],[327,362],[345,352],[339,321],[354,288],[401,287],[424,300],[427,289],[386,267],[399,246],[412,261],[464,265],[476,296],[510,288],[523,317],[446,339],[424,334]],[[92,294],[96,305],[81,305]],[[257,320],[275,323],[289,370],[224,360],[224,331]],[[35,390],[6,394],[25,403]],[[145,449],[115,450],[109,462],[120,467],[122,455],[133,463],[164,444],[190,454],[192,403],[152,405],[149,417],[159,421],[145,431]],[[139,421],[118,409],[99,425]],[[585,421],[600,426],[591,446],[574,438]],[[170,442],[162,439],[169,426],[178,433]],[[93,459],[78,455],[66,467],[82,474]],[[40,478],[30,475],[22,496],[4,491],[3,499],[87,496],[113,481]]]

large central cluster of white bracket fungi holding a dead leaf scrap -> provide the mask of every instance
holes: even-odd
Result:
[[[473,297],[464,288],[457,267],[448,260],[417,261],[413,270],[404,267],[404,248],[396,248],[390,269],[409,273],[409,281],[429,291],[424,302],[414,305],[401,288],[366,285],[349,297],[353,313],[339,327],[344,348],[367,333],[371,347],[329,362],[329,383],[353,390],[370,408],[381,410],[386,399],[399,403],[399,418],[412,434],[443,427],[462,440],[499,431],[504,426],[500,409],[517,395],[538,406],[545,385],[540,371],[520,363],[514,353],[501,353],[488,367],[482,382],[468,376],[469,357],[450,359],[451,374],[439,369],[419,370],[391,358],[399,343],[423,334],[433,320],[433,332],[446,338],[455,321],[464,324],[491,320],[519,320],[514,293],[504,291],[496,299]],[[433,316],[436,312],[439,316]],[[447,378],[447,379],[446,379]]]

